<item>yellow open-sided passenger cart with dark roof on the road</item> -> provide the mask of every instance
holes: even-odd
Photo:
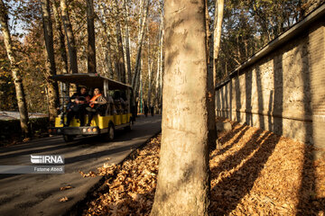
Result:
[[[112,140],[116,129],[132,129],[135,118],[131,112],[133,110],[133,91],[130,85],[125,85],[98,74],[64,74],[51,76],[51,78],[60,84],[60,106],[58,106],[60,109],[55,119],[55,127],[49,130],[50,134],[63,135],[66,142],[72,141],[78,135],[102,135],[105,139]],[[71,84],[76,85],[77,89],[80,86],[86,87],[89,94],[92,93],[94,88],[99,88],[101,94],[107,99],[111,97],[110,101],[113,99],[114,103],[108,103],[109,100],[107,100],[105,113],[95,115],[90,126],[80,126],[80,120],[76,117],[70,121],[70,125],[65,125],[67,122],[67,107],[71,103]],[[116,95],[119,98],[116,98]],[[120,104],[121,101],[124,103],[123,107]],[[88,122],[87,114],[82,118],[85,118],[84,122]]]

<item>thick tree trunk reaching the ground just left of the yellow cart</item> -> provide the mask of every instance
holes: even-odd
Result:
[[[51,23],[51,9],[49,0],[41,0],[42,8],[42,24],[44,32],[44,40],[46,47],[46,75],[45,79],[48,86],[49,98],[49,117],[50,126],[54,126],[55,117],[57,115],[57,106],[59,100],[59,87],[58,83],[51,79],[51,76],[56,75],[54,49],[53,49],[53,31]]]

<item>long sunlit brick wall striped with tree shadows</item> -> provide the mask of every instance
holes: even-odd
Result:
[[[217,115],[325,149],[323,14],[291,30],[290,38],[274,40],[274,49],[262,50],[218,85]]]

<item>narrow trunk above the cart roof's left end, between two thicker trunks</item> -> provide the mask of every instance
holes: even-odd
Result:
[[[68,74],[68,56],[65,48],[64,34],[61,28],[61,18],[59,14],[59,3],[53,2],[53,14],[55,19],[55,30],[59,35],[60,60],[62,64],[62,74]]]

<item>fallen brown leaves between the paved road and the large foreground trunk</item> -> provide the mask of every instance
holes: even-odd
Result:
[[[88,202],[85,215],[144,215],[151,211],[158,174],[161,136],[151,139],[144,148],[137,149],[122,166],[98,168],[97,173],[81,175],[107,175],[107,181],[94,192],[95,200]],[[112,176],[112,177],[110,177]],[[104,190],[103,190],[104,188]]]

